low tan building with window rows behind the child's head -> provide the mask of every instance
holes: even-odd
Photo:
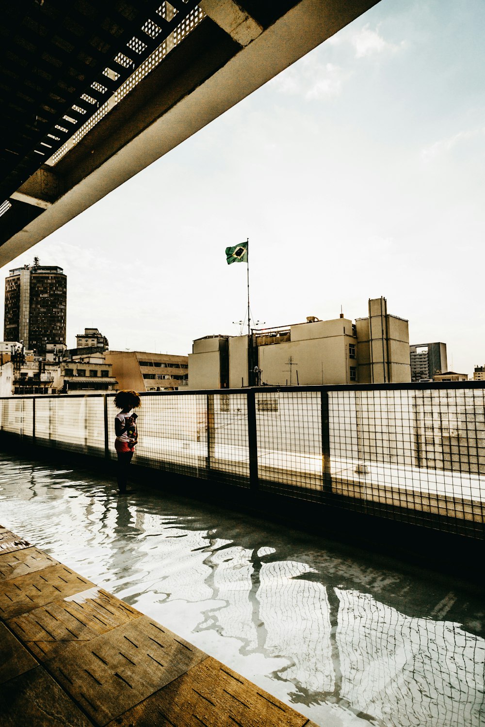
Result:
[[[175,391],[187,385],[188,357],[146,351],[105,351],[119,389]]]

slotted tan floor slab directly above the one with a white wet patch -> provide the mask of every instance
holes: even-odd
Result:
[[[59,598],[92,587],[66,566],[49,566],[42,571],[2,581],[0,583],[0,616],[9,619],[25,614],[37,606],[45,606]]]

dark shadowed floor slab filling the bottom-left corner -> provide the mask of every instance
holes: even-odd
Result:
[[[1,727],[92,727],[42,667],[0,685]]]

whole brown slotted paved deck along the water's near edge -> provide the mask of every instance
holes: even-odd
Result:
[[[0,526],[2,727],[316,727]]]

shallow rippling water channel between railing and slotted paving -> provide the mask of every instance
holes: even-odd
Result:
[[[0,523],[325,727],[485,725],[485,614],[450,579],[0,454]]]

